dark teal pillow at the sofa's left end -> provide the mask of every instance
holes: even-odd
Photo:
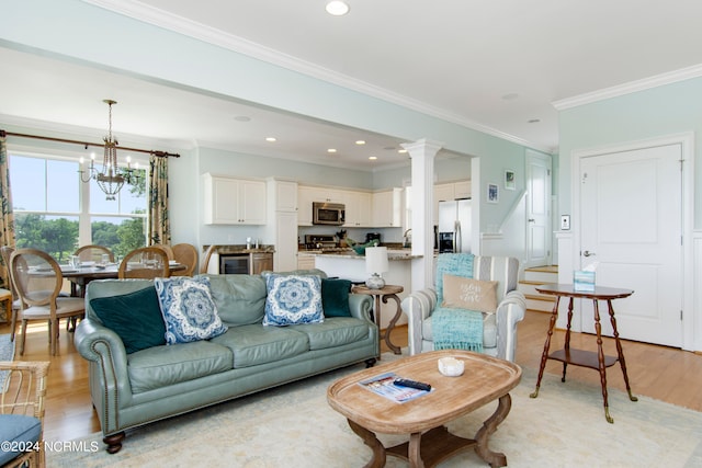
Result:
[[[166,344],[166,324],[154,287],[90,299],[90,307],[105,327],[120,335],[127,354]]]

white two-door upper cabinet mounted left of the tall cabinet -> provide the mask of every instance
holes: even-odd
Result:
[[[265,182],[203,174],[204,222],[265,225]]]

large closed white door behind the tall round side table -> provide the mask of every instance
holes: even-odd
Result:
[[[580,266],[599,262],[598,286],[633,289],[613,301],[620,336],[682,343],[681,146],[668,145],[580,160]],[[582,330],[595,332],[582,300]],[[600,306],[603,334],[612,334]]]

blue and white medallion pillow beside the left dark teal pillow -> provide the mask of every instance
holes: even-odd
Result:
[[[208,340],[227,331],[217,315],[205,276],[155,278],[166,322],[166,344]]]

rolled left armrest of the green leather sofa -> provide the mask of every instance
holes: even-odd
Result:
[[[76,327],[73,343],[78,353],[90,362],[90,386],[95,410],[102,414],[117,414],[117,409],[127,406],[132,399],[127,354],[122,339],[94,320],[84,319]],[[102,415],[100,419],[103,432],[109,433],[110,423],[103,421]]]

